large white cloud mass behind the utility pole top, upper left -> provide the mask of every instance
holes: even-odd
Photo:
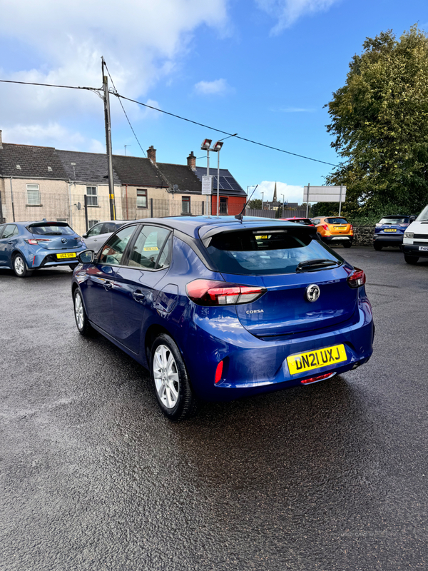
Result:
[[[3,45],[9,42],[16,61],[30,50],[33,64],[31,69],[23,64],[9,72],[0,68],[0,77],[99,88],[104,56],[116,89],[141,98],[160,79],[176,73],[199,26],[227,26],[227,4],[228,0],[4,0]],[[5,132],[25,124],[47,128],[51,121],[74,126],[84,116],[103,113],[101,100],[88,91],[0,84],[0,98],[0,128]],[[114,99],[112,113],[121,113],[123,121]],[[156,113],[126,101],[123,105],[131,121]]]

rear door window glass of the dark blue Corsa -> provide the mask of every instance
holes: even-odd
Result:
[[[158,226],[143,226],[136,240],[128,265],[133,268],[158,270],[170,263],[170,231]]]

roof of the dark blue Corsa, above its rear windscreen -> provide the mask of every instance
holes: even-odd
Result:
[[[237,220],[235,216],[167,216],[165,218],[141,218],[140,220],[129,221],[129,223],[161,224],[173,230],[178,230],[191,236],[192,238],[202,238],[205,233],[214,228],[220,230],[239,230],[240,228],[263,228],[266,226],[290,226],[294,228],[292,222],[282,221],[278,218],[260,218],[258,216],[244,216],[243,221]]]

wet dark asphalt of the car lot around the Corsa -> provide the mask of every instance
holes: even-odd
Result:
[[[337,251],[367,273],[370,362],[178,424],[78,335],[71,271],[0,271],[0,569],[426,570],[428,261]]]

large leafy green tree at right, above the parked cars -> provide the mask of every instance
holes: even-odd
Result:
[[[326,105],[345,160],[326,178],[347,186],[344,213],[414,213],[428,204],[428,37],[412,26],[367,38]]]

